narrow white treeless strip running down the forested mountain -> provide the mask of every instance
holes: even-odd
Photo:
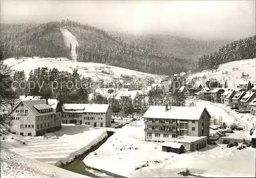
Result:
[[[65,46],[70,47],[70,43],[72,46],[71,49],[71,58],[72,60],[76,61],[76,46],[78,46],[78,42],[76,40],[76,37],[72,35],[67,29],[60,29]]]

